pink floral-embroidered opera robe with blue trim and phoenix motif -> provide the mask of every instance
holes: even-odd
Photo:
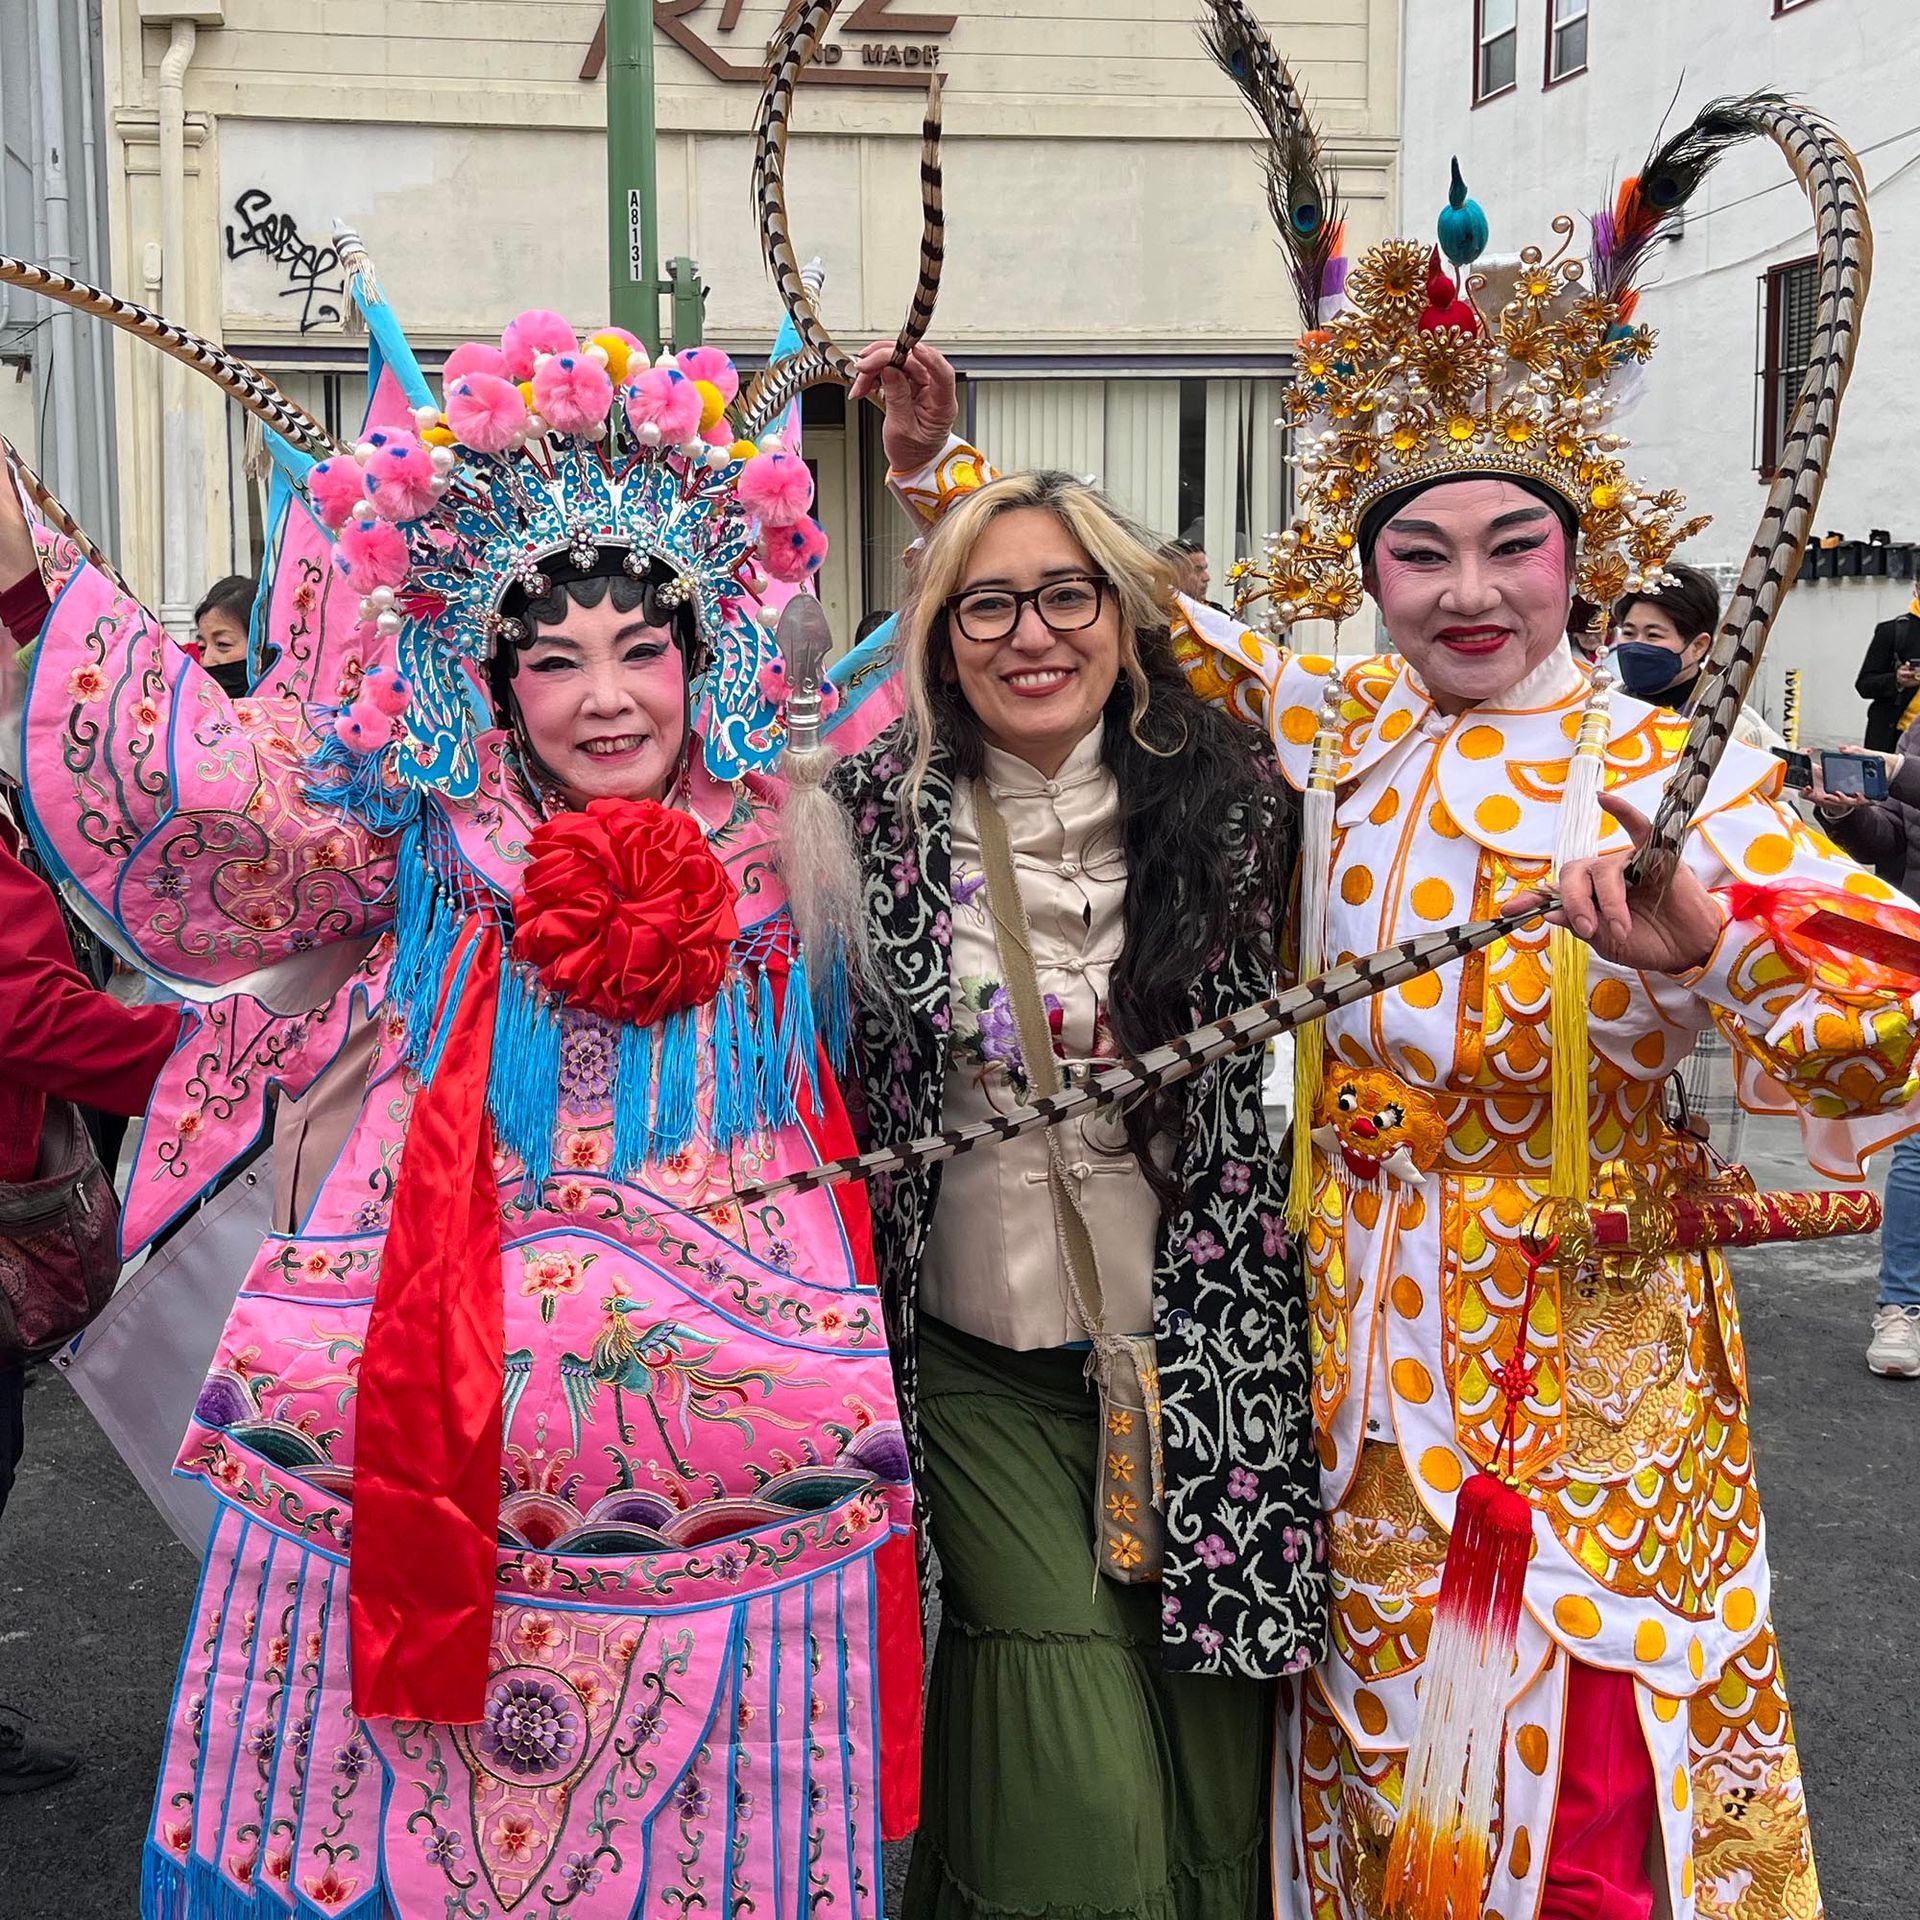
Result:
[[[65,541],[46,568],[27,695],[36,835],[123,947],[202,996],[148,1116],[131,1238],[257,1133],[269,1083],[313,1081],[349,998],[380,1029],[338,1162],[300,1229],[253,1260],[182,1440],[179,1471],[209,1482],[219,1519],[142,1912],[877,1912],[881,1718],[889,1811],[910,1824],[920,1642],[866,1204],[843,1190],[743,1213],[728,1198],[849,1148],[824,1062],[795,1069],[789,1123],[720,1148],[703,1010],[689,1144],[624,1179],[609,1167],[632,1029],[566,1014],[545,1083],[526,1066],[553,1171],[530,1181],[495,1154],[505,1398],[484,1716],[359,1718],[357,1371],[420,1087],[409,1020],[442,993],[409,862],[511,920],[534,822],[490,735],[470,803],[428,799],[407,833],[369,835],[307,797],[298,707],[230,703]],[[756,1020],[770,1041],[791,925],[753,797],[697,780],[693,806],[737,885],[739,991],[722,998],[745,1060]],[[349,977],[315,1012],[230,993],[278,993],[288,962],[342,945]]]

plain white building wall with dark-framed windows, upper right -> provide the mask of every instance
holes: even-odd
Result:
[[[1780,714],[1782,676],[1801,668],[1801,737],[1857,741],[1853,691],[1878,620],[1920,580],[1901,549],[1920,541],[1912,492],[1912,380],[1920,349],[1920,106],[1912,0],[1411,0],[1404,27],[1404,225],[1427,234],[1448,159],[1492,223],[1492,255],[1553,248],[1551,221],[1611,205],[1659,138],[1720,94],[1789,92],[1826,113],[1860,156],[1876,232],[1860,357],[1839,420],[1818,528],[1845,536],[1826,568],[1788,593],[1761,674]],[[1805,371],[1812,223],[1770,142],[1707,179],[1684,230],[1663,246],[1640,305],[1659,334],[1622,415],[1632,470],[1686,492],[1713,524],[1678,559],[1722,582],[1759,520],[1772,445]],[[1874,530],[1889,551],[1864,545]],[[1862,543],[1862,545],[1855,545]],[[1878,572],[1874,568],[1887,568]]]

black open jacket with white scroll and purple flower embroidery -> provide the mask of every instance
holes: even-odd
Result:
[[[952,778],[937,758],[910,828],[897,743],[893,728],[835,774],[866,862],[868,931],[906,1010],[904,1033],[856,1012],[870,1144],[939,1131],[956,991]],[[1221,831],[1244,841],[1248,822],[1223,820]],[[1246,943],[1194,983],[1194,1020],[1258,1000],[1271,983],[1271,947]],[[1260,1092],[1260,1056],[1212,1068],[1190,1087],[1175,1162],[1187,1198],[1160,1235],[1154,1334],[1165,1405],[1165,1663],[1271,1676],[1321,1657],[1327,1580],[1300,1269],[1281,1227],[1284,1169],[1267,1146]],[[876,1260],[912,1436],[916,1298],[941,1169],[874,1188]]]

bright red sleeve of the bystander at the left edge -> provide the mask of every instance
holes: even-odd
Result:
[[[60,902],[0,833],[0,1079],[144,1114],[179,1037],[179,1008],[121,1006],[73,964]]]

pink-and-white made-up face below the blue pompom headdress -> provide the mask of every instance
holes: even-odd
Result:
[[[513,676],[528,745],[574,806],[660,801],[687,737],[687,674],[664,626],[641,607],[622,612],[566,601],[566,616],[534,628]]]

